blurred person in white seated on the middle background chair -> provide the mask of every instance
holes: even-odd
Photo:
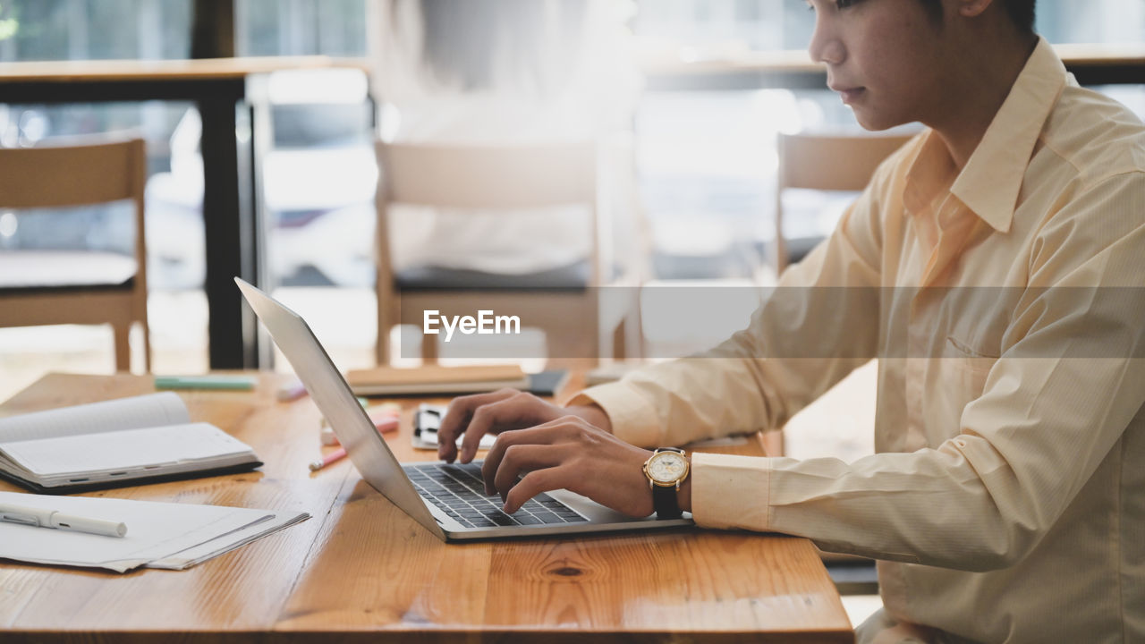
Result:
[[[597,140],[601,171],[613,186],[606,203],[614,206],[616,244],[631,243],[631,128],[641,88],[626,26],[634,14],[631,1],[373,0],[370,10],[382,140],[461,146]],[[591,256],[583,207],[537,214],[394,209],[394,268],[520,275]]]

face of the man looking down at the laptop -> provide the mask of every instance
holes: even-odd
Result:
[[[949,109],[943,81],[957,63],[951,39],[919,0],[807,0],[815,11],[808,52],[827,64],[827,84],[867,129]]]

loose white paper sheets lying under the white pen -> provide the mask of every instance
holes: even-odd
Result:
[[[123,537],[0,521],[0,558],[108,568],[183,570],[310,518],[306,512],[126,498],[0,492],[0,505],[38,508],[119,521]]]

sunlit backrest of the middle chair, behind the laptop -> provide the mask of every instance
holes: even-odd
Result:
[[[544,146],[377,143],[379,197],[458,209],[595,205],[592,142]]]

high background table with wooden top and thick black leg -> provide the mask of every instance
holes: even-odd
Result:
[[[44,61],[0,63],[0,102],[15,104],[191,101],[203,119],[203,223],[213,369],[255,368],[259,351],[238,276],[263,276],[262,221],[255,181],[273,138],[261,83],[297,69],[368,69],[360,58],[274,56],[195,61]]]

